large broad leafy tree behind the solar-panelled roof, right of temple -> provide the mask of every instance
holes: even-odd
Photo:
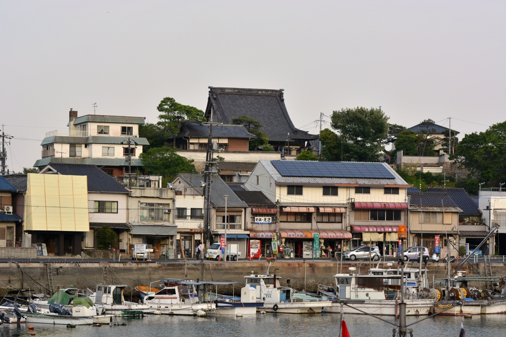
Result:
[[[389,117],[379,108],[357,107],[333,111],[332,129],[339,132],[345,161],[381,161]]]

